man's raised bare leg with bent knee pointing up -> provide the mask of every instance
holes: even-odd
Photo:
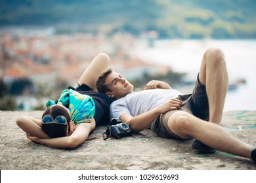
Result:
[[[205,52],[199,79],[206,86],[209,102],[209,122],[221,125],[224,101],[228,89],[228,72],[224,54],[220,49],[210,48]]]

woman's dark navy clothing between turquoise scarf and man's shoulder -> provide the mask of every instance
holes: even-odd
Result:
[[[68,89],[73,89],[81,94],[89,95],[95,101],[95,122],[96,125],[109,125],[110,124],[110,104],[114,101],[108,95],[104,93],[94,92],[86,84],[78,86],[78,88],[68,87]]]

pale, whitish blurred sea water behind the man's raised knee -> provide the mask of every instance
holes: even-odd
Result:
[[[151,42],[152,43],[152,42]],[[175,71],[187,72],[195,80],[203,53],[217,47],[224,52],[230,84],[244,79],[228,90],[224,111],[256,110],[256,40],[156,40],[153,44],[138,41],[133,53],[144,61],[171,65]]]

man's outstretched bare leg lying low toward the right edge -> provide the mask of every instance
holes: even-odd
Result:
[[[181,138],[193,137],[211,148],[251,158],[253,146],[236,139],[220,125],[200,120],[187,112],[177,111],[171,114],[168,126]]]

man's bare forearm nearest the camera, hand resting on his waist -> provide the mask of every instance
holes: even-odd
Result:
[[[146,129],[156,118],[169,110],[176,110],[181,107],[181,100],[179,99],[170,99],[167,103],[161,105],[160,107],[153,108],[148,112],[144,112],[138,116],[131,116],[131,114],[123,114],[119,118],[121,122],[130,124],[131,129],[135,133]]]

